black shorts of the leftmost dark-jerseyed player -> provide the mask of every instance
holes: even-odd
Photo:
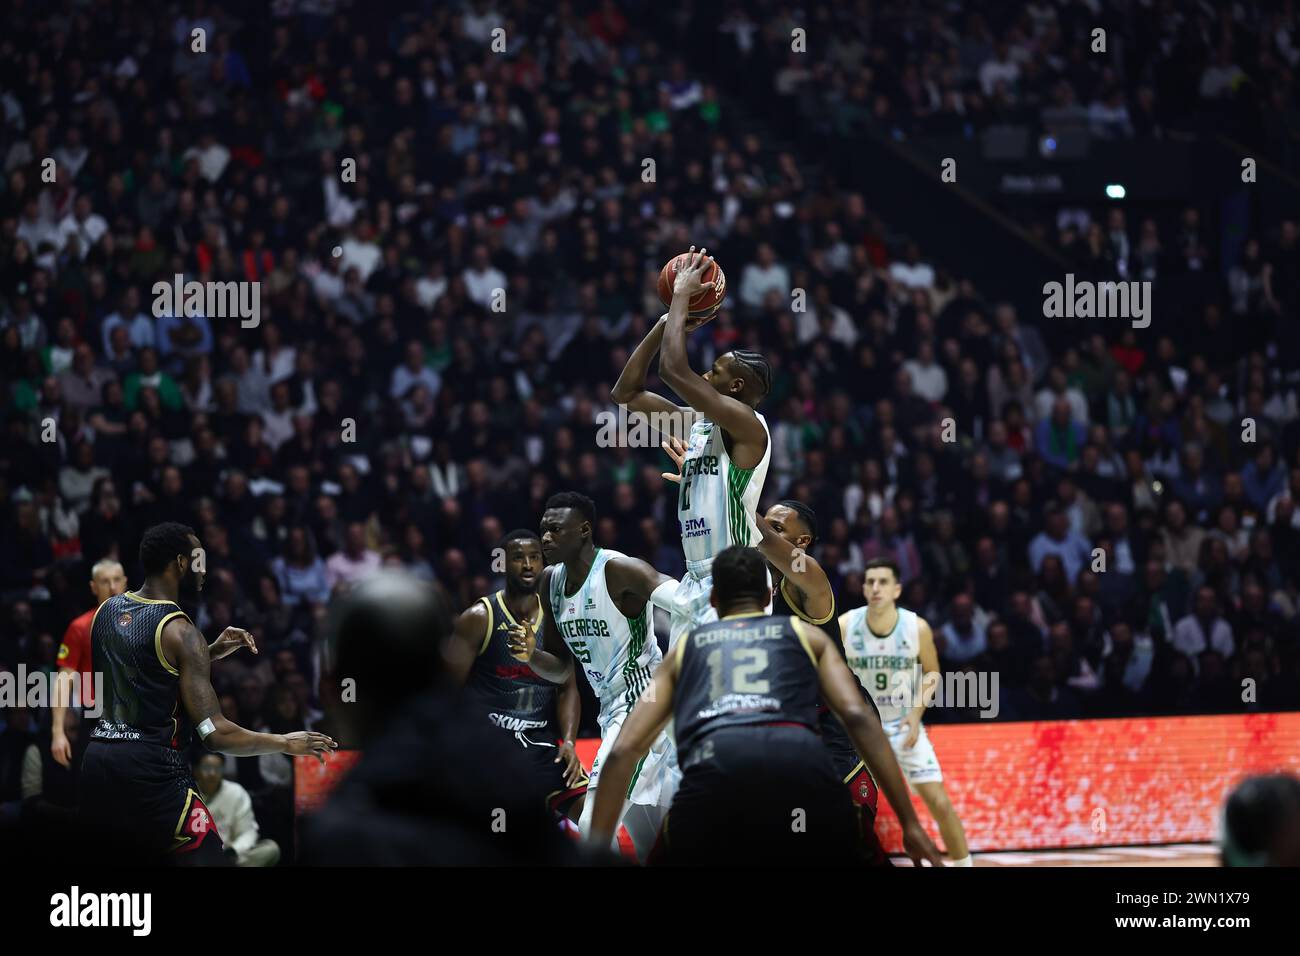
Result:
[[[168,862],[225,862],[216,821],[186,756],[139,740],[91,740],[82,760],[83,825]]]

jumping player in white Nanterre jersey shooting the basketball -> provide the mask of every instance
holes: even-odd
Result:
[[[610,393],[629,411],[692,421],[677,486],[686,575],[673,597],[670,646],[692,628],[718,619],[708,604],[714,558],[732,545],[758,545],[754,514],[772,457],[767,421],[758,414],[772,380],[763,356],[737,349],[720,355],[703,375],[692,371],[686,356],[688,329],[699,328],[716,313],[690,313],[692,299],[714,287],[712,281],[702,280],[712,267],[705,252],[692,246],[680,258],[668,313],[632,352]],[[659,376],[686,406],[646,390],[646,372],[660,346]]]

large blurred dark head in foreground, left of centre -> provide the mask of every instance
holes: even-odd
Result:
[[[382,571],[330,607],[330,695],[351,741],[364,744],[411,698],[446,679],[451,614],[426,581]]]

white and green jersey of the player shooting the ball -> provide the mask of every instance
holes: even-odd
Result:
[[[758,546],[754,512],[763,494],[767,463],[772,458],[772,433],[767,419],[758,415],[758,420],[767,433],[767,447],[753,468],[736,467],[727,454],[719,425],[699,419],[690,427],[677,485],[677,520],[686,568],[696,576],[708,574],[714,558],[725,548]]]

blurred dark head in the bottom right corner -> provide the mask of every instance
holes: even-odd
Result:
[[[1300,866],[1300,778],[1251,777],[1223,806],[1225,866]]]

